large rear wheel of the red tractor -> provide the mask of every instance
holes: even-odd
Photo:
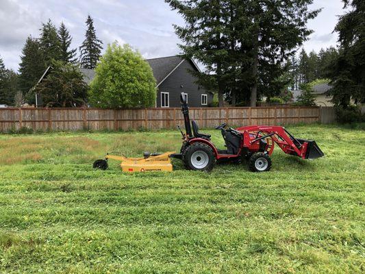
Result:
[[[192,171],[211,171],[216,158],[210,146],[196,142],[188,146],[183,154],[186,169]]]

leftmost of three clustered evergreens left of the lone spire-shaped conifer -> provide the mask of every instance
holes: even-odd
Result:
[[[19,88],[23,95],[27,95],[29,90],[36,85],[46,69],[44,51],[40,47],[40,42],[29,36],[23,47],[21,64],[19,64]],[[29,94],[27,99],[29,103],[35,101],[32,94]]]

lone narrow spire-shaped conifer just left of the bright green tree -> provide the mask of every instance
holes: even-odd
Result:
[[[103,42],[97,38],[94,21],[91,16],[86,20],[88,29],[86,30],[85,40],[82,43],[80,50],[80,63],[84,69],[95,69],[97,62],[101,57],[101,49],[103,49]]]

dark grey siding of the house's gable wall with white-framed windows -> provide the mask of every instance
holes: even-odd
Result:
[[[156,106],[161,108],[161,92],[168,92],[170,97],[170,108],[179,108],[180,93],[188,94],[188,105],[192,108],[206,108],[213,101],[211,92],[205,88],[195,84],[197,78],[194,77],[188,70],[194,70],[194,66],[184,60],[180,66],[158,87],[158,96]],[[181,85],[183,86],[181,88]],[[201,105],[201,95],[207,95],[207,105]]]

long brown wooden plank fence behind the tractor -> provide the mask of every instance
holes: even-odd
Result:
[[[290,125],[327,121],[322,108],[190,108],[199,127],[221,123]],[[102,110],[97,108],[0,108],[0,132],[28,127],[34,130],[171,129],[184,125],[179,108]]]

